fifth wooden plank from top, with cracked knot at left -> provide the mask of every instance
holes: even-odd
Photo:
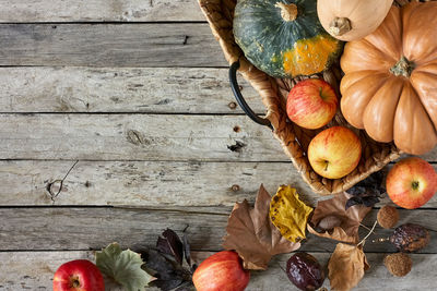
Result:
[[[279,185],[291,184],[297,189],[300,198],[312,206],[318,199],[328,198],[315,194],[291,161],[74,163],[58,160],[0,161],[0,206],[233,206],[236,201],[245,198],[253,202],[261,183],[271,195]],[[62,191],[57,194],[60,181],[68,172]],[[381,204],[388,202],[386,195]],[[437,207],[437,196],[425,207]]]

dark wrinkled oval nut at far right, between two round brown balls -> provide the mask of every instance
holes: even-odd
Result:
[[[401,252],[415,252],[425,247],[430,240],[427,229],[422,226],[405,223],[397,228],[390,242]]]

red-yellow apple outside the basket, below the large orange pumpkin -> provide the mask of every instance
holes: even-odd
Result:
[[[406,209],[418,208],[437,192],[437,173],[426,160],[406,158],[389,171],[386,186],[394,204]]]

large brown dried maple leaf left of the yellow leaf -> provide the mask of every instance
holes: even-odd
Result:
[[[271,257],[300,247],[283,238],[269,217],[270,195],[260,186],[255,208],[247,201],[236,203],[227,221],[223,247],[235,250],[246,269],[267,269]]]

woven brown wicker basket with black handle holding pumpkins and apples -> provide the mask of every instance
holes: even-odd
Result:
[[[281,142],[285,154],[293,160],[297,171],[316,193],[329,195],[345,191],[400,156],[400,150],[392,143],[383,144],[375,142],[364,131],[352,128],[345,121],[340,110],[338,110],[335,118],[328,126],[343,125],[353,130],[362,142],[362,159],[358,167],[342,179],[331,180],[317,174],[309,165],[306,153],[309,142],[320,130],[314,131],[297,126],[288,120],[285,110],[286,96],[290,89],[294,84],[306,77],[296,77],[293,80],[273,78],[259,71],[245,58],[243,51],[236,45],[233,35],[233,15],[236,2],[236,0],[199,0],[199,4],[206,16],[212,33],[220,41],[225,58],[231,64],[231,80],[235,78],[235,71],[239,68],[243,76],[250,82],[251,86],[261,96],[267,107],[265,119],[256,117],[251,112],[244,101],[243,96],[240,96],[237,86],[235,86],[235,81],[233,84],[234,94],[249,117],[260,124],[272,128],[273,134]],[[394,2],[395,4],[404,4],[409,1],[395,0]],[[334,87],[338,96],[340,96],[339,84],[342,72],[339,64],[334,64],[330,70],[309,77],[324,78]]]

